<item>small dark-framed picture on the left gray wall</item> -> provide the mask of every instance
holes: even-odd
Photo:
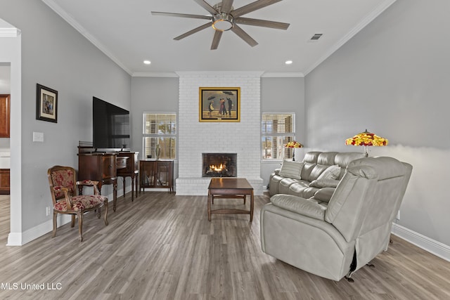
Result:
[[[36,119],[58,122],[58,91],[37,84]]]

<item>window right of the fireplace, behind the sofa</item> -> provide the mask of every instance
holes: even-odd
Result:
[[[293,150],[283,146],[295,141],[294,113],[262,113],[262,159],[287,159]]]

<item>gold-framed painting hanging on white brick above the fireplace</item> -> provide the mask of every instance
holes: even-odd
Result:
[[[240,122],[240,88],[199,89],[200,122]]]

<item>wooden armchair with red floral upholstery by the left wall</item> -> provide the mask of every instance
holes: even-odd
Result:
[[[53,235],[56,236],[58,214],[71,214],[71,227],[75,226],[75,216],[78,218],[79,241],[83,241],[83,214],[96,210],[100,219],[100,208],[105,206],[105,225],[108,225],[108,198],[100,195],[98,181],[76,181],[75,169],[72,167],[54,166],[47,171],[50,193],[53,200]],[[94,187],[94,195],[77,195],[77,186]]]

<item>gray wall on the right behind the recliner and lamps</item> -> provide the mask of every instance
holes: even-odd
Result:
[[[447,0],[397,0],[305,78],[307,144],[362,151],[345,138],[364,129],[388,138],[370,155],[413,165],[399,225],[446,245],[449,12]]]

